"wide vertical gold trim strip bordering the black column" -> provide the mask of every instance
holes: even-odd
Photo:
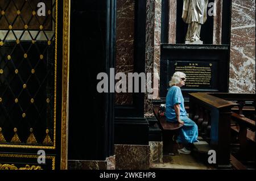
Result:
[[[70,0],[63,1],[63,80],[61,110],[60,169],[68,169],[68,83],[69,83],[69,23]],[[57,20],[56,20],[57,21]]]

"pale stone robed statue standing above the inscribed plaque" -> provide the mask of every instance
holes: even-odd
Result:
[[[201,25],[207,20],[208,0],[183,0],[182,19],[188,23],[186,44],[203,44],[200,40]]]

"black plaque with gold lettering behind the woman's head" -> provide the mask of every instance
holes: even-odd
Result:
[[[214,69],[216,69],[216,62],[174,62],[174,72],[182,71],[186,74],[187,81],[184,88],[187,89],[212,89]]]

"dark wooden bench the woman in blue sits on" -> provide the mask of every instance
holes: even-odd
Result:
[[[177,154],[176,138],[179,130],[183,127],[181,123],[171,123],[166,121],[165,116],[159,115],[160,105],[153,106],[153,113],[158,120],[160,129],[163,132],[163,153],[164,154]]]

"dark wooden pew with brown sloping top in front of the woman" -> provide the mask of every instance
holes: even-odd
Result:
[[[216,151],[217,166],[230,168],[230,117],[236,103],[210,95],[207,92],[189,94],[192,119],[202,136]]]

